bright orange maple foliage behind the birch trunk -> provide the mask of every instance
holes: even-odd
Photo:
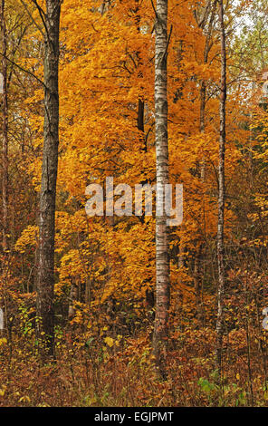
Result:
[[[191,1],[183,5],[171,1],[169,5],[168,25],[173,25],[168,46],[170,177],[172,183],[184,184],[186,198],[184,227],[176,229],[171,241],[175,247],[171,266],[174,283],[179,281],[180,244],[185,246],[181,256],[190,259],[204,238],[215,237],[216,232],[219,45],[212,34],[208,62],[204,63],[206,34],[196,25],[194,6]],[[109,224],[100,218],[86,218],[84,213],[84,191],[92,180],[102,184],[106,176],[113,175],[133,186],[155,181],[154,19],[149,1],[140,3],[139,8],[134,0],[111,2],[104,9],[92,0],[66,0],[62,5],[57,287],[70,286],[69,276],[79,277],[84,286],[90,274],[93,299],[100,294],[102,303],[112,295],[128,297],[129,292],[144,298],[155,282],[153,218],[148,218],[146,225],[139,218],[117,218]],[[28,66],[33,61],[30,58]],[[38,70],[42,72],[41,65]],[[207,85],[203,134],[199,130],[201,81]],[[137,126],[139,99],[144,102],[144,132]],[[35,132],[35,152],[41,148],[41,100],[39,89],[28,100],[31,108],[37,107],[28,118]],[[232,109],[230,106],[230,123]],[[229,140],[232,135],[230,131]],[[239,155],[231,142],[226,156],[227,176],[232,180]],[[206,162],[203,183],[198,176],[202,161]],[[28,165],[36,189],[40,167],[38,156]],[[227,229],[232,218],[232,213],[227,213]],[[31,243],[30,230],[25,230],[17,247],[23,249],[27,241]]]

